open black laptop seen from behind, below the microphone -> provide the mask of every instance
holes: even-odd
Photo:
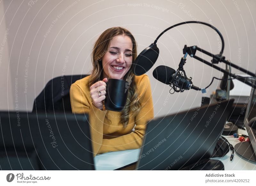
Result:
[[[209,161],[233,102],[149,121],[136,170],[190,170]]]

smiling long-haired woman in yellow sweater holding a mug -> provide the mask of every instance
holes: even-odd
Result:
[[[154,117],[149,78],[132,73],[136,57],[137,44],[130,31],[109,28],[94,44],[91,75],[71,85],[72,112],[89,113],[94,155],[140,148],[147,121]],[[109,78],[130,82],[122,112],[104,109]]]

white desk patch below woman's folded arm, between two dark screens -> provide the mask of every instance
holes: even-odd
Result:
[[[94,157],[95,170],[115,170],[138,160],[140,149],[116,151]]]

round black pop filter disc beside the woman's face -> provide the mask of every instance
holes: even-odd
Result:
[[[159,49],[156,44],[152,43],[145,48],[132,63],[132,72],[135,75],[142,75],[156,63],[159,55]]]

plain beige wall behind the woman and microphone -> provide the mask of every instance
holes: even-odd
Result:
[[[0,98],[1,109],[8,109],[7,103],[9,109],[15,107],[15,78],[19,110],[31,111],[35,97],[53,77],[62,73],[89,73],[92,67],[92,44],[105,29],[113,26],[131,30],[140,52],[153,43],[162,30],[173,24],[188,20],[211,22],[224,36],[224,56],[254,72],[255,9],[255,1],[240,0],[2,0],[0,43],[6,28],[9,28],[9,35],[4,47],[4,62],[0,67],[3,92]],[[174,28],[163,35],[157,43],[160,56],[156,66],[166,65],[176,69],[183,56],[181,50],[185,44],[197,45],[212,53],[218,53],[217,39],[213,30],[203,25],[190,24]],[[238,52],[241,52],[241,60],[238,58]],[[200,52],[197,52],[197,55],[202,56]],[[65,62],[67,57],[68,62]],[[204,58],[210,60],[208,57]],[[223,64],[218,66],[225,67]],[[185,69],[188,77],[193,77],[194,85],[201,88],[206,87],[213,76],[222,77],[217,70],[193,58],[187,59]],[[195,90],[167,96],[169,86],[156,81],[152,75],[153,70],[154,68],[148,72],[148,76],[156,116],[199,105],[203,95]],[[232,72],[235,73],[237,70],[233,69]],[[6,83],[12,90],[8,89],[7,92]],[[207,96],[217,87],[218,81],[214,81]],[[164,101],[168,102],[166,106]]]

